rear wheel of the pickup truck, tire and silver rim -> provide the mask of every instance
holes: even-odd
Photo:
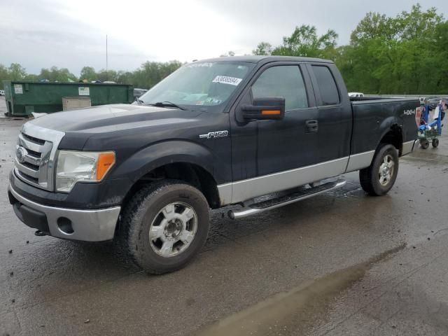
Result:
[[[391,162],[393,162],[391,164]],[[372,164],[359,171],[363,190],[372,196],[386,195],[393,187],[398,174],[398,153],[394,146],[382,144],[374,155]]]

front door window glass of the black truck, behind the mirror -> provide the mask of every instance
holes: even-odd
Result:
[[[286,111],[308,107],[307,90],[297,65],[266,69],[252,85],[252,97],[284,97]]]

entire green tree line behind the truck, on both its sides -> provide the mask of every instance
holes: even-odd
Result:
[[[348,45],[337,45],[330,29],[318,35],[316,27],[301,25],[280,45],[260,42],[254,55],[288,55],[332,59],[342,72],[349,91],[370,94],[448,94],[448,21],[436,8],[423,10],[419,3],[395,17],[367,13],[351,32]],[[221,56],[233,56],[228,52]],[[1,80],[110,80],[149,89],[182,65],[179,61],[145,62],[135,71],[84,66],[80,76],[69,69],[41,69],[27,73],[20,64],[0,64]]]

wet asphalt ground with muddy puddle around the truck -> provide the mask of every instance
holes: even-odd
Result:
[[[6,189],[22,123],[0,118],[0,336],[448,335],[447,135],[402,158],[384,197],[351,173],[259,216],[214,211],[194,262],[148,276],[111,243],[18,221]]]

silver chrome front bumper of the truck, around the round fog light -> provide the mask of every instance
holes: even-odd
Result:
[[[121,207],[94,210],[48,207],[22,197],[11,186],[8,189],[20,203],[45,214],[52,237],[82,241],[113,239]],[[71,221],[73,233],[66,233],[59,228],[57,224],[59,218],[68,218]]]

